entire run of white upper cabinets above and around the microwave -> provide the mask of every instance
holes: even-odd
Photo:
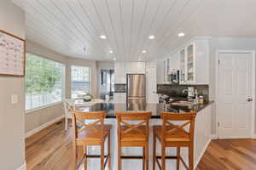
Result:
[[[157,64],[157,83],[170,83],[171,75],[179,71],[180,84],[209,83],[209,42],[196,38],[178,48]]]

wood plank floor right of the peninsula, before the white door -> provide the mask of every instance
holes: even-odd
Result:
[[[256,140],[214,139],[196,169],[256,169]]]

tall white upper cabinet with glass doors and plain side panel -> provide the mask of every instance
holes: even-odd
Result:
[[[180,84],[209,83],[209,44],[194,40],[179,50]]]

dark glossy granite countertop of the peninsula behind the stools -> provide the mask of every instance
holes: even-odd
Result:
[[[96,104],[90,107],[80,108],[80,111],[106,111],[107,118],[116,118],[116,111],[152,111],[151,118],[160,118],[161,112],[175,112],[183,113],[188,111],[200,112],[208,105],[212,105],[213,101],[206,101],[202,105],[191,105],[191,106],[180,106],[170,104],[137,104],[137,105],[126,105],[126,104]]]

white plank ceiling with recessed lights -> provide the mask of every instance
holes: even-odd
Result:
[[[26,11],[26,39],[84,59],[148,60],[166,56],[191,37],[256,37],[255,0],[13,2]],[[177,37],[181,31],[185,37]]]

